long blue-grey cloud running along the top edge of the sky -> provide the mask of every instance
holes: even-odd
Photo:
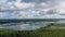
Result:
[[[44,3],[50,3],[51,5],[55,5],[55,4],[57,4],[57,0],[22,0],[22,2],[35,2],[35,3],[42,3],[42,2],[44,2]]]

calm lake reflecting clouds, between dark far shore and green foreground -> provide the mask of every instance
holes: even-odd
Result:
[[[21,23],[8,23],[2,24],[1,27],[14,29],[14,30],[34,30],[40,27],[44,27],[52,22],[21,22]]]

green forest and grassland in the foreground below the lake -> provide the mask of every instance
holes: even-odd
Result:
[[[56,24],[50,24],[36,30],[12,30],[0,28],[0,37],[65,37],[65,29],[51,27],[53,25]]]

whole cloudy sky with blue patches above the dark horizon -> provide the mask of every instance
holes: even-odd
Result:
[[[65,0],[0,0],[0,18],[65,18]]]

